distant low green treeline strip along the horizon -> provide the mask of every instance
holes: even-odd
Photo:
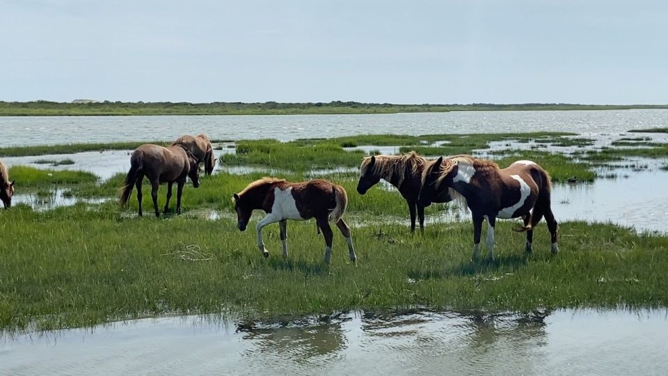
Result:
[[[605,109],[668,109],[668,104],[390,104],[333,101],[328,103],[241,102],[0,102],[0,116],[113,115],[288,115],[300,113],[399,113],[447,111],[545,111]]]

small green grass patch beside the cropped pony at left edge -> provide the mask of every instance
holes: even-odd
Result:
[[[12,180],[16,180],[15,189],[17,193],[21,189],[31,187],[45,187],[54,184],[80,184],[93,183],[97,176],[86,171],[56,171],[35,169],[30,166],[12,166],[9,169]]]

